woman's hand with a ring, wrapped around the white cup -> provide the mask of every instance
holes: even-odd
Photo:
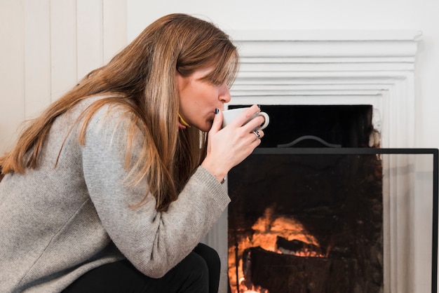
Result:
[[[219,182],[222,182],[231,168],[252,154],[252,151],[261,143],[260,138],[264,136],[264,132],[257,130],[259,132],[259,137],[257,137],[253,130],[264,123],[264,117],[256,116],[243,125],[259,111],[259,107],[253,105],[222,129],[222,112],[219,111],[215,115],[212,128],[208,133],[207,156],[201,165],[217,177]]]

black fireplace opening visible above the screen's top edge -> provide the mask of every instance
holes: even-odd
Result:
[[[250,105],[230,105],[229,109],[238,107]],[[277,147],[309,136],[339,147],[379,147],[372,105],[262,105],[261,110],[269,114],[270,123],[259,147]],[[315,139],[303,139],[295,147],[325,146]]]

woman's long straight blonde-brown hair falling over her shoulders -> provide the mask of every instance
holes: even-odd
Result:
[[[79,143],[86,143],[86,126],[97,109],[109,103],[126,107],[133,126],[144,133],[137,162],[130,162],[128,144],[126,168],[141,166],[136,182],[146,176],[156,209],[166,210],[205,157],[207,140],[207,134],[196,128],[176,131],[179,99],[175,70],[189,76],[212,66],[215,69],[203,79],[231,85],[238,71],[238,52],[227,34],[190,15],[175,13],[159,18],[108,64],[91,71],[32,120],[12,151],[0,158],[2,172],[24,173],[38,167],[53,121],[81,100],[104,94],[105,98],[93,102],[83,114]],[[154,129],[160,131],[151,131]],[[128,132],[130,142],[133,134]]]

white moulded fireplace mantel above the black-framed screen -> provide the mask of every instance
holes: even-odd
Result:
[[[231,31],[241,69],[231,104],[372,104],[382,147],[414,147],[421,32]]]

